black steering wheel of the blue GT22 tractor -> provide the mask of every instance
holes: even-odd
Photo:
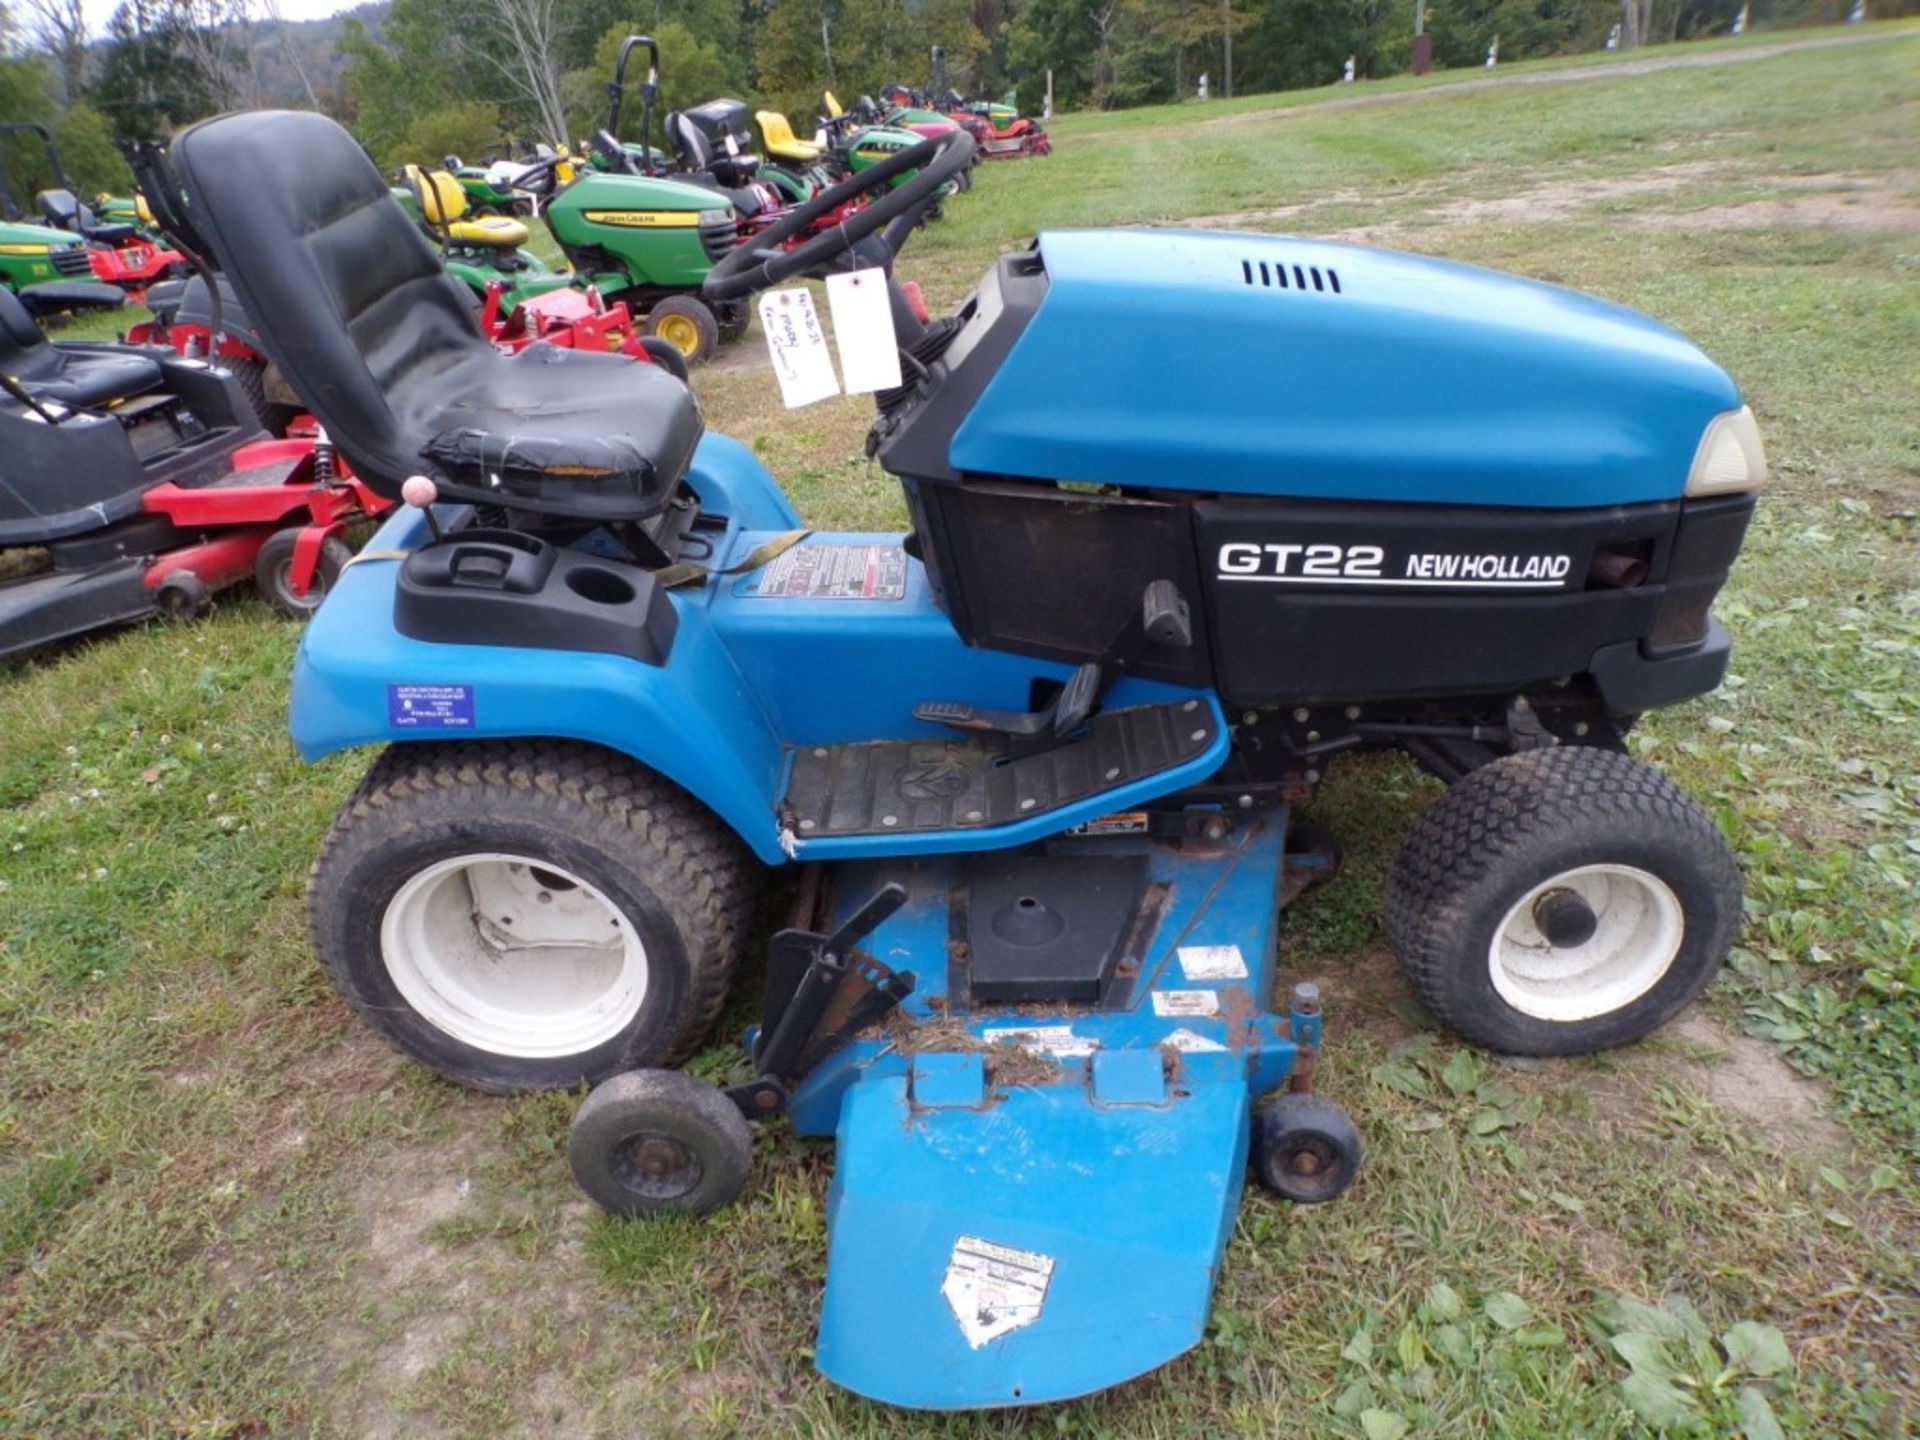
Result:
[[[774,225],[760,230],[753,240],[735,246],[707,275],[701,294],[712,301],[745,300],[755,290],[766,290],[795,275],[826,267],[839,259],[862,240],[879,234],[889,255],[899,255],[900,246],[920,219],[920,209],[941,186],[954,179],[973,161],[973,136],[966,131],[948,131],[931,140],[922,140],[906,150],[881,159],[872,169],[849,175],[839,184],[829,184],[812,200],[795,205]],[[893,190],[872,205],[862,205],[831,230],[822,230],[812,240],[783,250],[793,236],[837,211],[849,200],[885,190],[895,175],[918,169],[912,180]],[[881,234],[885,232],[885,234]]]

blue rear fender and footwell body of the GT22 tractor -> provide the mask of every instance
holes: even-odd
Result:
[[[739,561],[797,516],[753,453],[707,436],[689,480],[708,515],[716,568]],[[1219,703],[1192,689],[1121,678],[1108,703],[1177,701],[1212,730],[1181,764],[1029,820],[910,835],[785,837],[778,820],[791,747],[862,739],[945,737],[914,720],[914,705],[966,697],[1025,708],[1037,676],[1068,666],[966,645],[935,605],[918,561],[876,603],[753,599],[751,576],[672,593],[672,653],[645,664],[599,651],[445,645],[394,628],[397,561],[426,540],[419,511],[394,515],[348,568],[307,626],[294,662],[290,730],[315,760],[353,745],[553,737],[605,745],[699,799],[768,864],[885,852],[983,851],[1023,845],[1116,806],[1204,780],[1227,756]],[[820,543],[893,549],[899,536],[820,536]],[[1206,707],[1204,714],[1200,707]]]

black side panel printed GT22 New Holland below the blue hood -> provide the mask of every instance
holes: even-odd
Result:
[[[1667,595],[1680,505],[1206,499],[1194,538],[1231,705],[1463,695],[1588,670]]]

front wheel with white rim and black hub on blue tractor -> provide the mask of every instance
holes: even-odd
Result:
[[[1740,870],[1657,770],[1582,745],[1467,774],[1407,833],[1386,933],[1427,1008],[1492,1050],[1638,1041],[1718,973]]]

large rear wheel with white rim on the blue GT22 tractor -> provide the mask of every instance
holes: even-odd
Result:
[[[674,1066],[712,1029],[751,885],[660,776],[570,741],[394,745],[307,883],[313,948],[374,1031],[478,1091]]]

